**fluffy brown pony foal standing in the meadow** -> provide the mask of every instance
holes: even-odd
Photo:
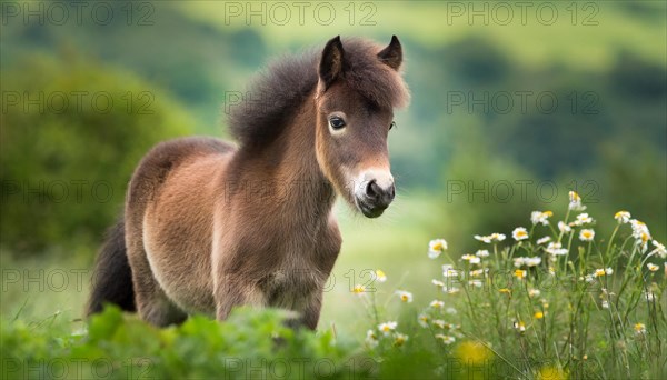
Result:
[[[336,193],[368,218],[395,196],[387,136],[409,98],[401,61],[396,37],[384,49],[336,37],[256,80],[229,116],[238,148],[155,147],[98,257],[88,314],[111,302],[167,326],[250,304],[296,311],[315,329],[340,251]]]

